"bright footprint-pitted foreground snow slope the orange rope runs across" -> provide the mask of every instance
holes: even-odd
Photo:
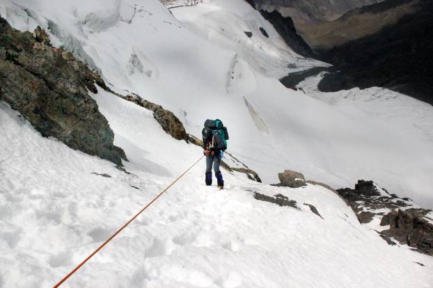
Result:
[[[42,138],[1,104],[0,287],[51,287],[198,159],[198,147],[170,138],[149,111],[109,93],[95,99],[132,174]],[[335,193],[256,186],[229,173],[218,191],[203,184],[204,168],[201,161],[63,286],[431,287],[432,257],[388,246]],[[282,193],[300,209],[251,191]]]

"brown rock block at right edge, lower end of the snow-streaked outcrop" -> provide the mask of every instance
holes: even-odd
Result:
[[[433,225],[416,212],[391,211],[382,218],[380,225],[390,226],[381,231],[382,235],[433,256]]]

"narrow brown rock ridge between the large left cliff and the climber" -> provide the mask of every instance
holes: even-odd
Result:
[[[161,125],[162,129],[173,138],[177,140],[184,140],[188,142],[188,134],[185,131],[182,122],[180,122],[179,118],[173,114],[173,112],[164,109],[161,105],[157,105],[148,100],[142,99],[139,95],[118,95],[123,99],[126,99],[130,102],[134,102],[135,104],[148,109],[153,112],[153,117],[159,125]]]

